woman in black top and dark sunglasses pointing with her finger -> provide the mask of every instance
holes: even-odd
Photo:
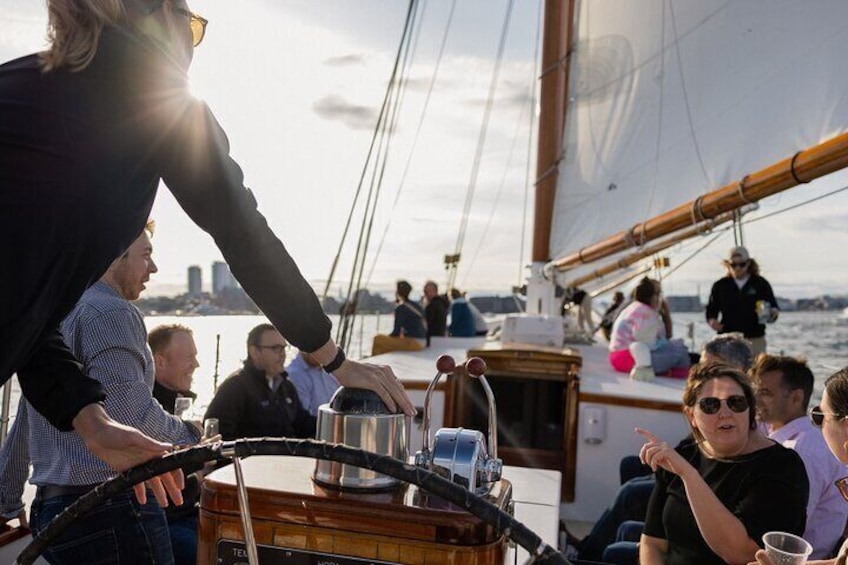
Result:
[[[758,431],[745,373],[696,365],[683,404],[693,443],[673,448],[637,429],[648,440],[639,455],[657,477],[640,563],[745,563],[764,533],[801,535],[809,491],[804,464]]]

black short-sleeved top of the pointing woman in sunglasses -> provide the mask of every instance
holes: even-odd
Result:
[[[675,449],[698,469],[760,547],[763,534],[772,530],[804,533],[810,485],[801,457],[791,449],[774,444],[725,461],[703,456],[694,443]],[[680,477],[663,469],[656,477],[644,533],[668,541],[666,564],[723,564],[698,529]]]

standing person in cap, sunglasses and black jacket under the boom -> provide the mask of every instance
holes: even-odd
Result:
[[[740,332],[751,342],[754,357],[766,351],[766,323],[780,310],[769,282],[744,247],[730,250],[727,275],[713,284],[707,302],[707,323],[718,333]]]

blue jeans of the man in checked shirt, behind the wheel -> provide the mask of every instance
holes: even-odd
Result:
[[[30,525],[38,535],[62,510],[82,495],[43,499],[36,493]],[[119,494],[78,518],[44,552],[53,565],[174,563],[165,513],[148,491],[139,504],[132,491]]]

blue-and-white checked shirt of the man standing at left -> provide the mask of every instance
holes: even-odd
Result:
[[[198,430],[166,413],[154,400],[154,364],[144,320],[115,289],[95,283],[62,321],[61,330],[85,373],[106,389],[109,416],[160,441],[198,441]],[[91,485],[117,476],[76,432],[60,432],[21,399],[18,417],[0,450],[0,514],[15,516],[23,508],[30,461],[30,482],[35,485]]]

